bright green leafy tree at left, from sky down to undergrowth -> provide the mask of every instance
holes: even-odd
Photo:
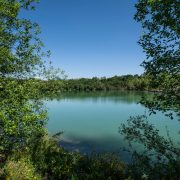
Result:
[[[40,29],[19,16],[36,2],[0,0],[0,162],[45,133],[46,111],[38,88],[31,88],[45,69]]]

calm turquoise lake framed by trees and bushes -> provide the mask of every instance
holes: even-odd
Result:
[[[142,92],[95,92],[66,93],[52,97],[46,102],[49,114],[50,134],[63,132],[61,145],[68,150],[81,153],[119,152],[122,159],[128,154],[122,150],[128,143],[118,129],[130,116],[148,114],[139,104]],[[148,120],[167,137],[167,128],[174,142],[178,139],[179,122],[170,120],[162,113],[151,115]],[[134,145],[135,149],[141,146]]]

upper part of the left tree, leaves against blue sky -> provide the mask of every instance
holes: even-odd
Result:
[[[0,75],[2,77],[34,76],[42,63],[43,44],[40,28],[29,19],[19,18],[22,9],[32,8],[35,0],[1,0],[0,3]],[[37,71],[36,71],[37,74]]]

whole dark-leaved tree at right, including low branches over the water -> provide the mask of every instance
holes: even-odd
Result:
[[[178,0],[138,0],[135,20],[140,22],[143,34],[139,40],[146,53],[142,63],[150,86],[159,90],[153,99],[142,99],[150,114],[162,111],[173,119],[180,117],[180,2]],[[136,179],[145,173],[148,179],[178,179],[180,148],[161,137],[148,122],[148,117],[130,117],[128,124],[120,127],[120,133],[128,141],[144,145],[146,153],[133,152],[131,172]],[[163,123],[163,122],[162,122]]]

